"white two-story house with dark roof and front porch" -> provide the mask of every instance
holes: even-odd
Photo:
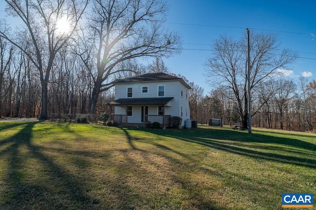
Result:
[[[170,126],[170,118],[190,119],[189,89],[183,79],[165,73],[149,73],[117,80],[111,119],[123,124],[159,122]]]

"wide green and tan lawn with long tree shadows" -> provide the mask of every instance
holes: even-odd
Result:
[[[252,132],[0,121],[0,209],[275,210],[316,192],[316,135]]]

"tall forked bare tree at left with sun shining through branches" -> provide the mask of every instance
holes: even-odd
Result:
[[[47,118],[48,79],[57,52],[72,37],[87,1],[78,0],[5,0],[9,14],[24,24],[30,39],[26,50],[8,31],[0,30],[0,37],[22,50],[40,74],[41,114]],[[62,21],[64,23],[62,23]],[[66,29],[67,28],[67,29]]]

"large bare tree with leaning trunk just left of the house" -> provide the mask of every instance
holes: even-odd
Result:
[[[168,57],[179,53],[180,36],[165,29],[164,0],[94,0],[92,15],[78,54],[93,75],[89,113],[93,114],[100,92],[113,87],[118,63],[143,56]],[[94,60],[96,58],[96,62]]]

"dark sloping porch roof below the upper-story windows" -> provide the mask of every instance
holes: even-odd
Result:
[[[167,105],[173,97],[159,97],[159,98],[119,98],[111,101],[109,105]]]

